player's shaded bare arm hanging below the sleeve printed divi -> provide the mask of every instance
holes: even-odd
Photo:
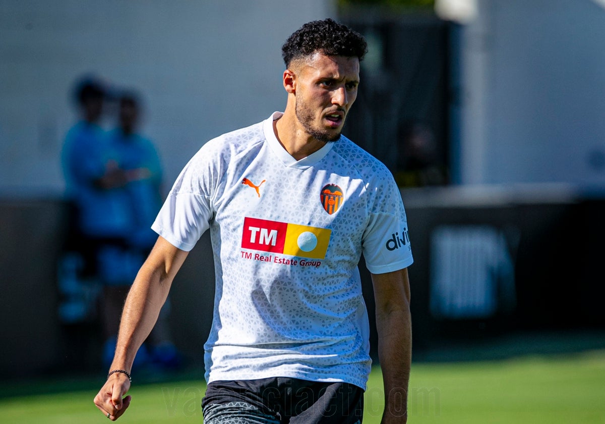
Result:
[[[371,274],[371,278],[385,391],[382,424],[406,423],[412,336],[408,271]]]

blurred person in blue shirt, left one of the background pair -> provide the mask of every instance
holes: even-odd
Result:
[[[104,173],[100,151],[105,131],[100,125],[106,104],[106,86],[91,76],[76,82],[73,98],[78,119],[65,136],[61,153],[68,205],[68,233],[59,264],[59,289],[65,297],[59,307],[64,323],[96,319],[96,240],[115,226],[115,208],[106,202],[95,180]],[[91,299],[84,295],[93,289]]]

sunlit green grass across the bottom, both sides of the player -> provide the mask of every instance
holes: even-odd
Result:
[[[0,421],[106,423],[92,402],[101,383],[5,383],[0,391]],[[119,422],[201,423],[203,388],[198,380],[134,385],[131,408]],[[498,361],[414,363],[409,401],[411,424],[605,424],[605,350]],[[364,423],[379,423],[383,405],[381,373],[375,368],[366,392]]]

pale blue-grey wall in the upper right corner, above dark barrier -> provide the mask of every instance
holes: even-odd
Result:
[[[605,187],[605,8],[480,0],[460,36],[461,184]]]

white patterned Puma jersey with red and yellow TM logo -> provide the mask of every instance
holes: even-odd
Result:
[[[216,294],[206,380],[293,377],[365,388],[368,317],[357,268],[413,261],[387,168],[341,137],[296,161],[264,122],[189,161],[152,228],[181,250],[211,230]]]

